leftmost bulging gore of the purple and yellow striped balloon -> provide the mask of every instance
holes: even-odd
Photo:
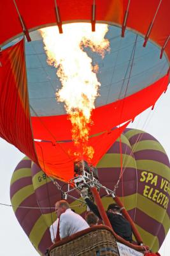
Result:
[[[39,254],[45,253],[46,248],[51,244],[50,232],[36,200],[36,194],[32,185],[31,160],[27,157],[24,157],[18,163],[13,172],[10,197],[11,203],[16,206],[13,207],[15,216],[24,229],[25,234],[27,234]],[[32,209],[32,207],[36,207],[36,209]],[[55,220],[54,214],[52,214],[51,218]]]

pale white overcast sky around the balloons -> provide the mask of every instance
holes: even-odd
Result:
[[[145,111],[139,118],[134,120],[134,123],[129,127],[135,129],[143,129],[152,134],[157,140],[160,141],[162,146],[170,157],[170,90],[162,95],[160,100],[155,104],[155,109]],[[0,139],[0,166],[1,166],[1,179],[0,179],[0,203],[11,204],[10,202],[10,180],[13,170],[18,162],[24,157],[24,154],[19,152],[17,148],[6,143]],[[0,218],[0,241],[1,251],[0,255],[17,255],[17,256],[34,256],[38,255],[34,250],[29,239],[20,227],[13,209],[11,207],[0,205],[1,218]],[[170,255],[170,232],[166,238],[165,243],[162,245],[160,254],[162,256]]]

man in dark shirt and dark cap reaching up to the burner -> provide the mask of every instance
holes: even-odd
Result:
[[[99,210],[97,209],[96,204],[94,204],[88,196],[87,189],[84,188],[81,191],[81,196],[84,198],[85,202],[87,203],[88,207],[96,216],[98,216],[101,219],[101,215],[99,213]],[[108,216],[108,219],[110,220],[111,227],[115,231],[115,233],[118,234],[118,236],[121,236],[125,240],[132,243],[132,228],[129,221],[127,221],[124,216],[122,216],[120,212],[120,207],[118,207],[117,204],[110,204],[108,206],[108,210],[106,211],[106,214]]]

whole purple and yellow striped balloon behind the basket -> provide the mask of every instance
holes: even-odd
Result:
[[[125,129],[121,141],[120,144],[117,140],[97,164],[99,180],[107,188],[115,189],[122,165],[122,178],[115,193],[123,196],[125,208],[136,223],[144,243],[156,252],[163,243],[170,224],[169,159],[159,141],[147,132]],[[57,182],[66,191],[64,183],[59,180]],[[38,252],[44,253],[51,244],[48,227],[55,220],[52,207],[60,200],[60,192],[36,164],[32,163],[31,167],[31,161],[27,157],[13,173],[11,204],[17,205],[17,208],[14,207],[15,215]],[[103,189],[100,194],[106,209],[113,199],[104,196]],[[74,193],[74,197],[78,198],[78,194]],[[85,212],[85,206],[81,202],[73,198],[67,199],[76,212]],[[18,206],[39,209],[23,209]]]

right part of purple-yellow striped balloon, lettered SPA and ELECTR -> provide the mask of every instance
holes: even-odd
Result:
[[[159,141],[147,132],[125,129],[121,138],[123,175],[116,193],[123,196],[145,244],[157,252],[170,227],[169,159]],[[120,177],[119,148],[116,141],[97,165],[100,180],[110,189]]]

